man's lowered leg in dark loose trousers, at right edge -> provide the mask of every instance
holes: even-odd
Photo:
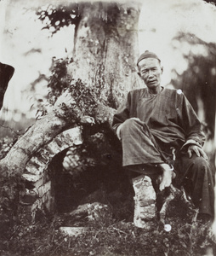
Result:
[[[207,160],[193,154],[189,158],[186,154],[177,161],[177,182],[185,187],[200,214],[213,217],[214,212],[214,190],[213,173]]]

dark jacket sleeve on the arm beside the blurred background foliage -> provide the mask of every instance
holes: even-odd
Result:
[[[202,131],[202,124],[190,105],[190,102],[184,95],[182,98],[182,124],[184,126],[186,139],[182,148],[185,148],[190,144],[195,144],[202,148],[205,142],[205,134]]]

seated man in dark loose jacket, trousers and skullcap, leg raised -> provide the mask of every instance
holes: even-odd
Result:
[[[137,66],[146,88],[130,91],[113,119],[122,141],[122,165],[151,178],[161,175],[161,191],[176,176],[200,216],[213,218],[213,173],[196,113],[181,90],[161,86],[163,68],[156,54],[145,51]]]

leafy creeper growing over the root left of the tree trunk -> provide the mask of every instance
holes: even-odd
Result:
[[[83,84],[81,79],[72,79],[67,73],[67,67],[71,62],[72,59],[54,59],[52,74],[48,79],[48,103],[49,106],[54,106],[58,98],[67,92],[71,96],[71,103],[67,105],[64,102],[66,99],[63,98],[60,107],[64,114],[61,113],[60,117],[79,122],[83,115],[94,116],[99,91]],[[37,110],[37,119],[47,113],[48,105],[41,104]]]

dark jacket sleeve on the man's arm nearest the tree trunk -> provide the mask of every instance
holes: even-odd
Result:
[[[131,94],[128,95],[122,105],[117,109],[117,112],[113,116],[112,128],[117,133],[117,127],[121,125],[126,119],[130,118],[130,104]]]

